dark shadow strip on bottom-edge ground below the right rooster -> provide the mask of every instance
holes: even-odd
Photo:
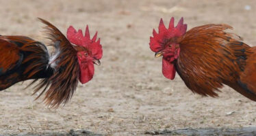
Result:
[[[162,131],[146,131],[149,135],[220,135],[220,136],[251,136],[256,135],[256,126],[237,129],[230,128],[201,128],[201,129],[177,129]]]

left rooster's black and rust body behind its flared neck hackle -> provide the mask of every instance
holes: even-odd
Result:
[[[1,36],[0,44],[0,90],[16,82],[45,78],[51,74],[44,73],[49,54],[40,42],[24,36]]]

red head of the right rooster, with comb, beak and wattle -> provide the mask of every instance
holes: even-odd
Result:
[[[183,24],[183,18],[174,27],[175,19],[170,19],[169,27],[166,29],[161,18],[159,32],[153,29],[153,37],[150,37],[150,48],[155,52],[155,57],[163,56],[162,73],[170,80],[175,78],[175,61],[179,57],[179,42],[187,30],[187,24]]]

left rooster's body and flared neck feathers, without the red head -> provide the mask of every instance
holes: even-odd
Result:
[[[75,48],[52,24],[45,29],[55,52],[49,54],[46,46],[24,36],[0,36],[0,90],[16,82],[40,80],[34,94],[42,88],[44,102],[52,107],[71,99],[79,78],[79,63]],[[31,85],[30,84],[30,85]],[[37,98],[38,98],[37,97]]]

